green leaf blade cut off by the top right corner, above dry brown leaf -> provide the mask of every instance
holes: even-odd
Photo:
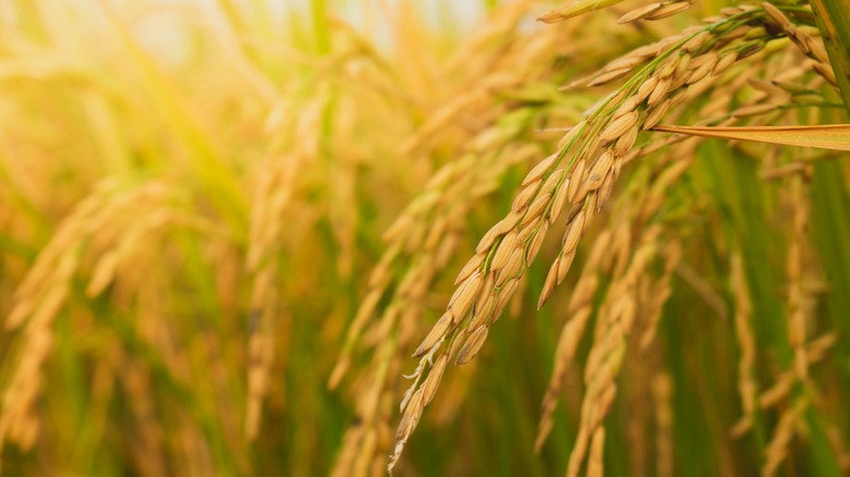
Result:
[[[850,0],[812,0],[817,28],[850,114]]]

